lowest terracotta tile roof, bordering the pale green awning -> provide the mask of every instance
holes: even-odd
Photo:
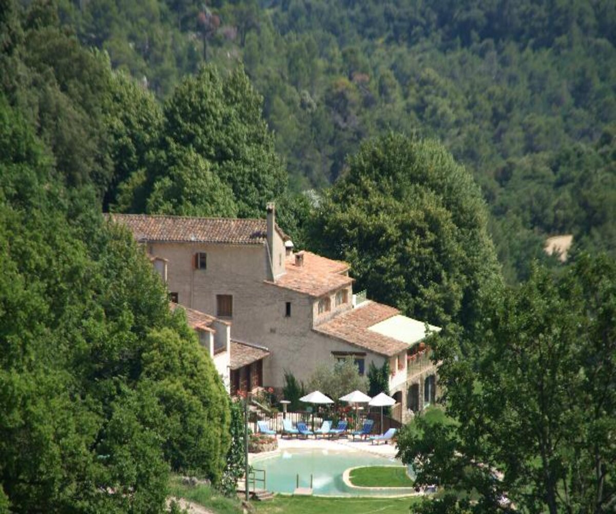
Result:
[[[367,301],[355,309],[347,310],[315,326],[312,330],[365,348],[375,354],[391,357],[407,349],[410,344],[371,331],[370,327],[399,313],[394,307]]]

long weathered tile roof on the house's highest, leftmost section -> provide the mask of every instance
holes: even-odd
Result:
[[[264,244],[267,222],[257,219],[194,218],[150,214],[108,214],[128,226],[137,241]],[[288,239],[276,225],[278,234]]]

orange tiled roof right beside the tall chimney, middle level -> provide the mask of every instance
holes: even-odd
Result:
[[[349,270],[346,262],[326,259],[312,252],[302,253],[304,263],[301,266],[296,264],[296,254],[287,257],[286,273],[276,278],[276,286],[319,297],[353,283],[353,279],[346,275]]]

